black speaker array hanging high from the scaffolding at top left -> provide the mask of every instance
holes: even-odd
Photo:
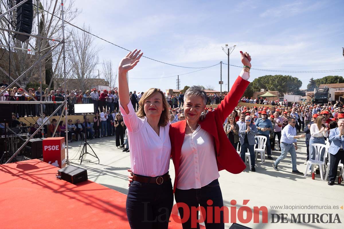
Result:
[[[22,0],[17,0],[17,4]],[[33,20],[33,3],[32,0],[26,1],[24,4],[17,8],[17,27],[15,31],[31,34]],[[30,36],[23,34],[14,34],[14,38],[24,42],[29,39]]]

